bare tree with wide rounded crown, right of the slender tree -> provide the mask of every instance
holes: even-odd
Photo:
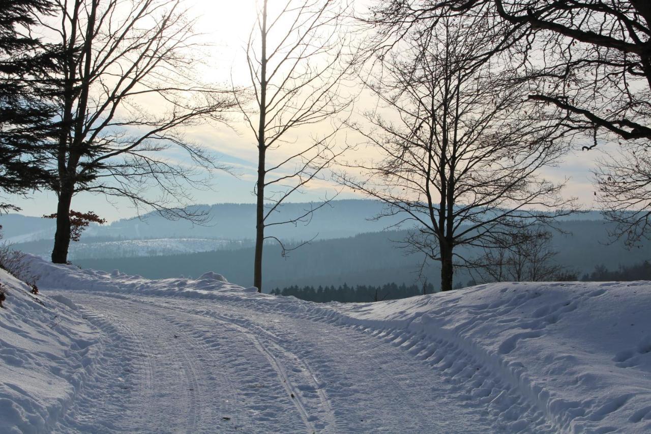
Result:
[[[396,121],[371,112],[371,130],[353,125],[384,158],[350,164],[365,175],[340,180],[414,225],[406,245],[441,263],[447,291],[454,267],[475,266],[456,247],[499,246],[504,233],[550,224],[574,205],[562,183],[538,174],[564,153],[555,117],[523,97],[499,57],[481,55],[498,39],[488,17],[412,30],[368,83]]]

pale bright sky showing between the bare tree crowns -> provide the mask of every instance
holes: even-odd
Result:
[[[255,0],[187,0],[190,13],[197,18],[195,29],[201,33],[202,41],[210,44],[205,48],[204,66],[200,71],[202,78],[228,87],[230,83],[247,85],[244,46],[256,17]],[[359,98],[354,111],[361,113],[375,104],[370,98]],[[314,127],[318,132],[322,127]],[[306,132],[303,132],[306,133]],[[201,143],[219,158],[219,163],[229,166],[233,174],[214,173],[212,188],[207,191],[188,188],[193,203],[253,203],[257,151],[255,139],[245,128],[241,114],[230,116],[229,126],[204,123],[187,131],[187,135]],[[297,137],[297,140],[300,137]],[[353,139],[354,140],[354,139]],[[575,146],[580,149],[580,143]],[[292,151],[281,149],[273,158],[279,161]],[[596,207],[594,187],[590,182],[590,169],[600,151],[571,152],[559,167],[549,168],[543,175],[557,181],[567,179],[566,196],[578,197],[585,208]],[[355,158],[375,159],[374,149],[360,147]],[[340,192],[340,198],[363,197],[350,190],[342,190],[335,184],[325,181],[314,182],[303,194],[296,195],[292,201],[319,201]],[[56,196],[52,192],[36,192],[27,197],[9,196],[10,201],[21,208],[21,214],[41,216],[56,211]],[[72,209],[94,210],[109,221],[134,216],[136,210],[127,201],[107,199],[102,195],[78,194],[74,197]]]

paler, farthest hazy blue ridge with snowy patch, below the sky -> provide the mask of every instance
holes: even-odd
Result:
[[[273,222],[296,218],[310,209],[310,203],[287,203],[273,214]],[[346,199],[332,201],[312,216],[309,224],[276,225],[268,228],[268,235],[284,240],[334,239],[352,237],[359,233],[382,231],[400,221],[398,217],[370,220],[378,215],[383,205],[378,201]],[[219,203],[195,205],[193,210],[206,212],[210,222],[195,225],[186,220],[167,220],[150,213],[142,219],[118,220],[109,225],[91,225],[82,235],[82,241],[90,238],[142,240],[167,238],[251,240],[255,237],[255,205],[250,203]],[[601,220],[599,212],[576,214],[564,220]],[[5,239],[12,242],[51,240],[55,225],[52,220],[38,217],[8,214],[0,216]]]

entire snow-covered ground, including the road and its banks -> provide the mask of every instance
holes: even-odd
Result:
[[[314,304],[30,257],[4,272],[0,432],[644,433],[651,283]]]

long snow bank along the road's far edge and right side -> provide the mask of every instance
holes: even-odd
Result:
[[[260,295],[214,273],[199,280],[146,280],[29,260],[43,288],[229,300],[381,330],[379,335],[434,367],[451,351],[461,351],[468,356],[464,364],[473,360],[490,369],[556,431],[651,432],[649,282],[493,283],[404,300],[316,304]],[[469,384],[469,399],[490,396],[490,384]],[[527,421],[509,414],[513,403],[505,399],[500,405],[500,417],[512,418],[510,431],[523,429]]]

